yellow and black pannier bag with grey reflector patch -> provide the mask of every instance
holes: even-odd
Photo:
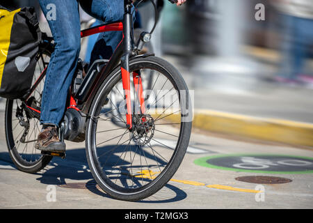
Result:
[[[0,96],[22,98],[31,88],[41,32],[32,7],[0,6]]]

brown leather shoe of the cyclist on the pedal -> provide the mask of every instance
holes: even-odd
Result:
[[[38,134],[35,148],[45,152],[65,153],[65,143],[58,139],[56,128],[51,126]]]

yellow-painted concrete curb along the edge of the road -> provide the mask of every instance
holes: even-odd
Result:
[[[196,110],[193,127],[212,132],[313,147],[313,124],[257,118],[214,110]]]

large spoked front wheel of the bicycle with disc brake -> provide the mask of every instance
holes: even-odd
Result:
[[[137,201],[160,190],[175,174],[186,153],[192,122],[186,119],[186,110],[191,113],[187,86],[170,63],[149,56],[132,59],[129,68],[141,75],[143,88],[150,81],[145,77],[154,72],[151,88],[143,91],[145,110],[131,80],[133,128],[129,130],[120,68],[113,70],[90,107],[86,154],[104,192],[115,199]],[[116,116],[115,121],[108,114]]]

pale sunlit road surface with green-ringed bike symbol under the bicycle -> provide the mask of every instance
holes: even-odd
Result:
[[[130,203],[95,185],[84,143],[67,142],[65,159],[54,157],[38,174],[18,171],[7,152],[3,112],[0,118],[0,208],[313,208],[312,150],[194,130],[172,180],[152,197]],[[236,180],[241,176],[289,183]]]

